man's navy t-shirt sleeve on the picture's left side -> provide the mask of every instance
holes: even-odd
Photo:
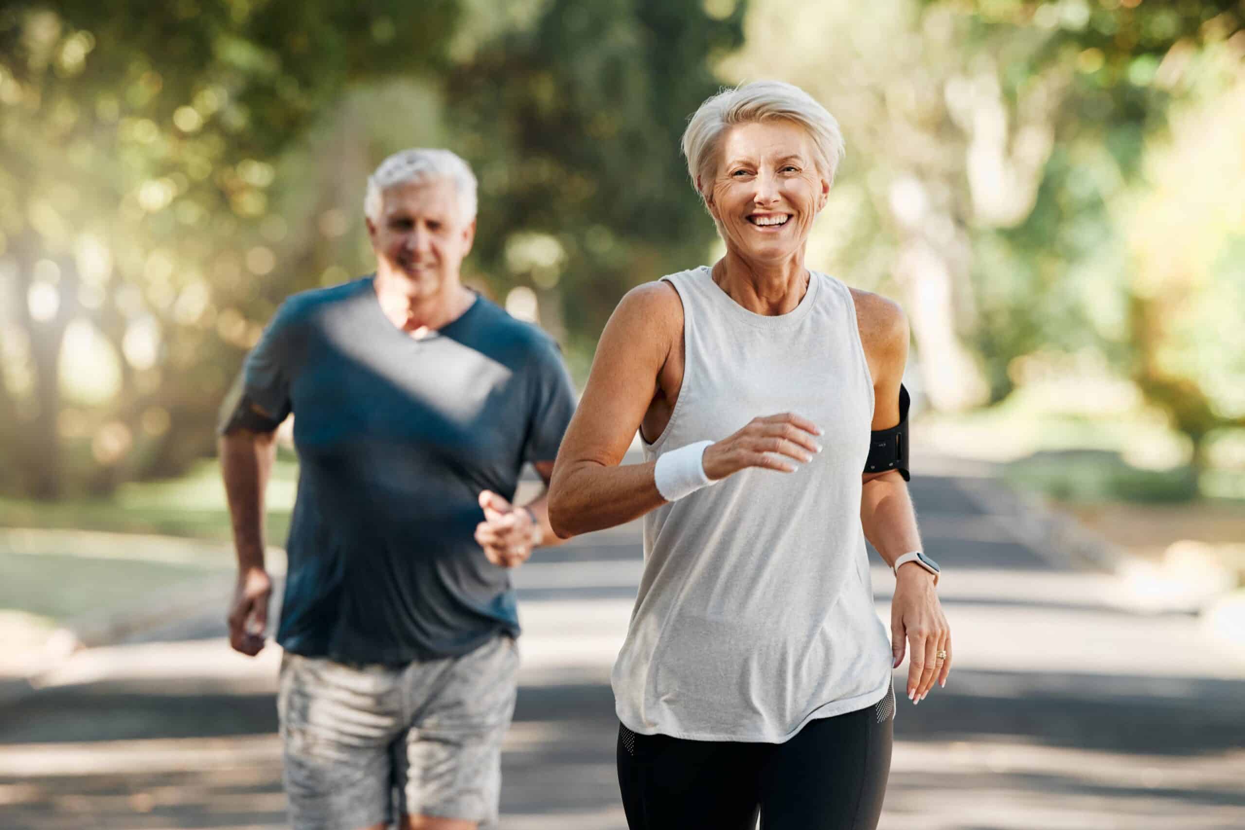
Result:
[[[276,310],[220,406],[217,432],[235,429],[271,432],[290,414],[294,322],[289,303]]]

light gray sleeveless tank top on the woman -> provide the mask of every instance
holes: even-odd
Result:
[[[890,690],[860,527],[873,381],[855,305],[817,272],[778,317],[741,307],[707,267],[662,279],[684,305],[684,383],[645,459],[784,411],[822,429],[822,452],[644,517],[644,576],[611,678],[618,715],[641,734],[782,743]]]

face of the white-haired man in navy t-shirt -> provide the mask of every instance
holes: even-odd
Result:
[[[431,298],[449,280],[457,284],[476,219],[462,216],[451,179],[407,182],[381,193],[381,216],[367,219],[367,236],[386,283],[410,299]]]

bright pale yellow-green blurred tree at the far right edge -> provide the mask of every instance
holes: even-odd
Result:
[[[1145,153],[1145,187],[1119,199],[1132,366],[1201,465],[1214,430],[1245,426],[1245,67],[1169,132]]]

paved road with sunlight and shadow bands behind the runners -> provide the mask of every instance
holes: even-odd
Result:
[[[926,548],[947,570],[956,670],[900,708],[881,826],[1245,828],[1243,652],[1194,616],[1133,613],[1127,582],[1025,543],[1022,517],[982,507],[995,491],[914,482]],[[538,560],[517,576],[527,634],[502,826],[622,829],[609,665],[637,530]],[[875,568],[883,619],[890,583]],[[279,656],[229,653],[218,616],[80,653],[0,709],[0,826],[285,826]]]

